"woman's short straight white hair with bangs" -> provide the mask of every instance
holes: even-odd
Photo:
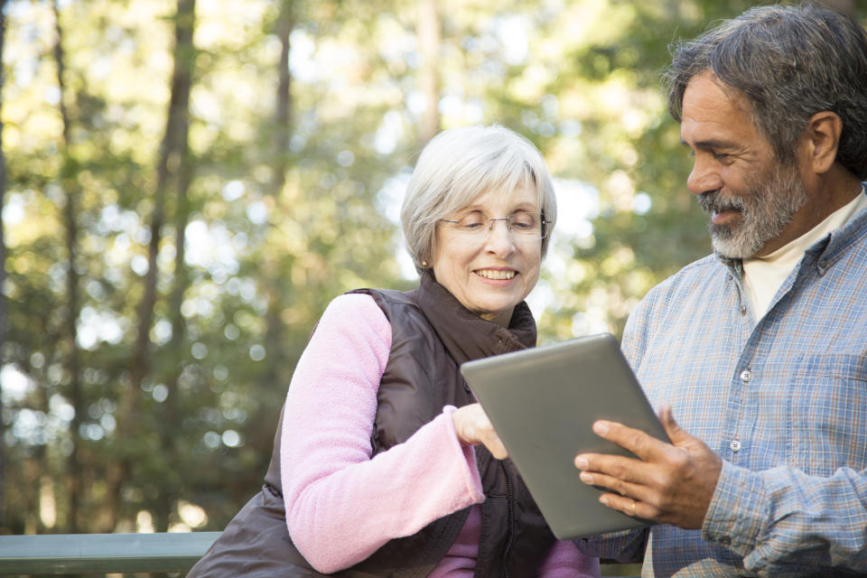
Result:
[[[557,201],[545,159],[524,136],[505,126],[463,126],[434,136],[418,157],[400,210],[409,254],[419,272],[433,262],[440,219],[469,205],[481,193],[510,195],[517,187],[536,191],[545,219],[542,256],[557,220]]]

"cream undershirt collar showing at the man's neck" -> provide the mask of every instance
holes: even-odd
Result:
[[[779,286],[797,266],[808,247],[831,231],[843,227],[849,219],[867,209],[867,195],[862,186],[861,194],[827,216],[797,239],[767,256],[743,260],[743,288],[753,312],[753,321],[758,322],[766,312]]]

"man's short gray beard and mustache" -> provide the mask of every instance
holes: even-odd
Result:
[[[708,226],[713,250],[728,258],[747,258],[777,238],[792,217],[804,206],[806,191],[797,165],[776,165],[771,174],[746,183],[747,190],[736,197],[721,191],[705,192],[698,202],[709,213],[736,210],[740,222]]]

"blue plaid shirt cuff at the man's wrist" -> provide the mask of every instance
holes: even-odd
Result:
[[[722,461],[720,478],[704,515],[702,539],[747,555],[755,548],[768,519],[768,500],[761,476]]]

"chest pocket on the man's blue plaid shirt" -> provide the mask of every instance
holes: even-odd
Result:
[[[809,475],[867,467],[867,356],[797,359],[790,388],[791,465]]]

